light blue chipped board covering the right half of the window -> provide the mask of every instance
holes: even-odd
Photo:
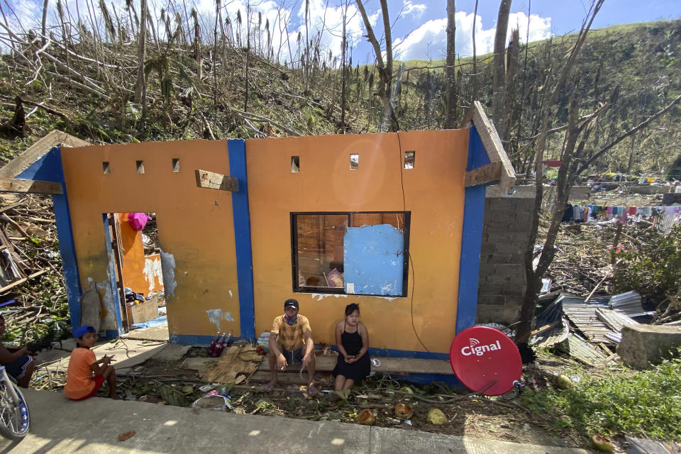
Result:
[[[345,293],[402,296],[404,233],[389,224],[349,227],[343,268]]]

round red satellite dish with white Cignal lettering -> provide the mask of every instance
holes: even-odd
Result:
[[[520,379],[523,362],[516,344],[498,329],[470,326],[456,335],[449,350],[456,377],[472,392],[487,388],[486,396],[498,396]]]

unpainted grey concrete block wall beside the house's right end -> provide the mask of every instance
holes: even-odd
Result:
[[[493,321],[509,325],[519,319],[526,289],[524,255],[533,209],[533,198],[517,194],[508,197],[492,192],[485,199],[477,323]]]

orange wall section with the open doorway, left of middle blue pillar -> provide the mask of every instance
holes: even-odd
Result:
[[[173,158],[180,172],[172,172]],[[144,161],[143,175],[136,160]],[[239,335],[231,193],[198,188],[194,175],[196,169],[229,175],[226,140],[64,147],[62,163],[83,287],[88,277],[101,288],[109,282],[102,214],[155,212],[170,333],[214,335],[219,322],[221,331]],[[116,328],[114,304],[115,295],[105,295],[103,328]]]

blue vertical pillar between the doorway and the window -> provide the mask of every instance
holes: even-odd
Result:
[[[241,337],[250,341],[255,339],[255,299],[253,297],[253,251],[250,243],[245,144],[243,139],[227,141],[229,173],[231,177],[239,180],[239,191],[232,192],[232,213],[236,248],[236,275],[239,289],[240,329]],[[210,342],[211,340],[208,341],[208,343]]]

